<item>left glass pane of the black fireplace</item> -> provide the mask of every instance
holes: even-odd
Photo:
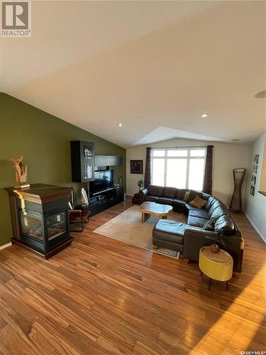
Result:
[[[42,219],[32,216],[26,212],[19,212],[19,218],[21,221],[21,232],[26,236],[43,241],[43,226]]]

